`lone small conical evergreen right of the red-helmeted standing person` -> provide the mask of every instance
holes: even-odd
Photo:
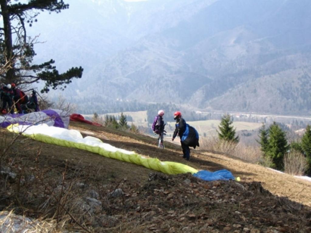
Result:
[[[234,143],[239,142],[239,135],[235,136],[235,129],[232,126],[233,121],[229,114],[224,115],[221,118],[220,126],[218,126],[219,130],[217,130],[218,137],[221,140],[230,141]]]

